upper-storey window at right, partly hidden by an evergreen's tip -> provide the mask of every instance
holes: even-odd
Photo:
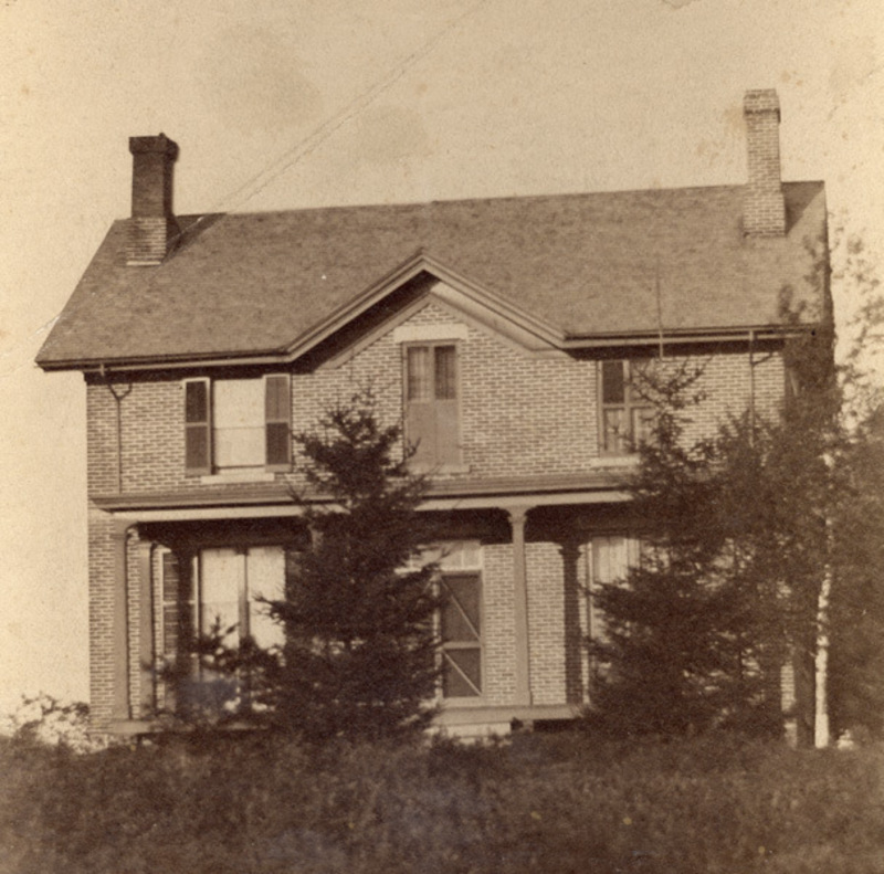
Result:
[[[639,372],[631,361],[602,361],[600,366],[600,442],[604,455],[625,455],[651,439],[654,408],[636,391]]]

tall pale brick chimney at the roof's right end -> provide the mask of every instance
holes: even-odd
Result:
[[[780,101],[774,88],[747,91],[743,101],[749,146],[749,182],[743,228],[750,236],[786,233],[786,203],[780,179]]]

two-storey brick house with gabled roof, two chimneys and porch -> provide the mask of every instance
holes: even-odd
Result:
[[[785,343],[829,312],[823,186],[781,182],[775,92],[745,114],[746,185],[253,214],[175,215],[176,145],[133,138],[133,214],[38,357],[86,382],[96,727],[149,728],[183,615],[273,640],[253,597],[298,536],[291,433],[369,383],[446,533],[441,725],[571,717],[586,592],[634,544],[630,368],[703,361],[696,434],[776,415]]]

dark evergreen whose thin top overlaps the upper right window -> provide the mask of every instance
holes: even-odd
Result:
[[[715,446],[684,441],[699,375],[681,365],[641,377],[656,411],[631,486],[642,555],[625,580],[594,593],[606,633],[591,643],[590,719],[617,731],[691,734],[758,698],[753,617],[718,512]]]

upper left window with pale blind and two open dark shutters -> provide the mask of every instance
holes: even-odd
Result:
[[[263,379],[189,379],[185,382],[185,466],[210,474],[292,462],[290,382]]]

